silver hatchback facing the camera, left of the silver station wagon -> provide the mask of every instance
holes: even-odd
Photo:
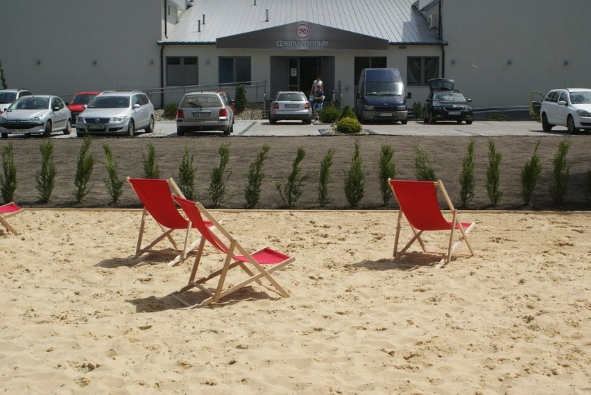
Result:
[[[64,100],[58,96],[31,95],[15,100],[0,114],[0,133],[3,139],[9,133],[43,134],[71,132],[71,114]]]

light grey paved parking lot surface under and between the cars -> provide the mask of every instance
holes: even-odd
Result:
[[[554,127],[551,132],[542,130],[542,123],[538,121],[474,121],[472,125],[455,122],[440,122],[428,125],[422,122],[410,121],[406,125],[400,123],[368,123],[363,125],[363,130],[368,134],[381,134],[390,136],[557,136],[567,132],[566,128]],[[236,121],[232,136],[322,136],[332,134],[331,125],[313,122],[305,125],[299,121],[280,121],[271,125],[266,119],[252,121]],[[588,132],[585,132],[588,134]],[[209,135],[222,134],[221,132],[207,132]],[[192,134],[197,136],[198,134]],[[10,139],[24,137],[22,134],[10,134]],[[191,136],[188,134],[187,136]],[[231,137],[232,137],[231,136]],[[76,138],[76,129],[72,128],[69,135],[55,132],[52,138],[72,139]],[[151,134],[137,132],[137,137],[177,137],[175,122],[157,122],[155,131]]]

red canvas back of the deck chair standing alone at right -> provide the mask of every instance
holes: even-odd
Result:
[[[445,230],[452,226],[441,215],[436,183],[391,179],[400,209],[411,225],[419,230]]]

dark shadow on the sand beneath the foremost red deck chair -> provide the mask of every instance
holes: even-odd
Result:
[[[201,301],[209,298],[207,292],[200,290],[185,292],[185,299],[191,304],[200,304]],[[242,301],[256,301],[256,300],[275,300],[280,297],[271,297],[266,292],[257,291],[252,287],[246,286],[239,290],[232,292],[231,295],[221,298],[216,303],[208,304],[200,308],[216,308],[222,306],[230,306]],[[135,306],[136,313],[155,313],[164,310],[186,310],[187,306],[183,305],[172,295],[165,295],[163,297],[143,297],[137,299],[126,299],[126,302]]]

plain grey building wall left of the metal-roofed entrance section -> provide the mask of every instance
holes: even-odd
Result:
[[[162,8],[162,0],[2,1],[8,87],[65,98],[159,87]]]

